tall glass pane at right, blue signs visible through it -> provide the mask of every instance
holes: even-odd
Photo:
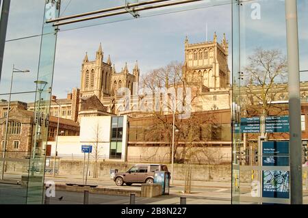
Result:
[[[305,68],[303,59],[307,56],[307,40],[303,36],[307,29],[304,18],[307,7],[303,9],[304,6],[307,1],[298,1],[301,70],[303,66]],[[276,13],[273,14],[273,10]],[[290,164],[279,161],[286,160],[289,154],[281,157],[266,153],[281,153],[283,146],[275,144],[284,141],[285,149],[289,150],[285,29],[285,1],[243,1],[240,5],[234,1],[233,204],[290,204]],[[300,81],[306,80],[302,73]],[[305,102],[307,84],[303,82],[300,83],[300,94]],[[303,111],[306,109],[302,103],[302,114]],[[305,138],[305,115],[301,119],[302,138]],[[263,141],[272,147],[264,147]]]

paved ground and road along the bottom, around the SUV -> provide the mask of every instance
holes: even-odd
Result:
[[[6,175],[7,180],[16,180],[15,175]],[[45,182],[55,184],[82,184],[81,176],[51,176],[45,175]],[[140,190],[140,184],[118,187],[110,177],[88,178],[88,185],[109,187],[112,189]],[[243,184],[242,184],[243,185]],[[174,180],[170,185],[170,194],[159,197],[136,197],[136,204],[179,204],[180,197],[186,197],[187,204],[231,204],[231,182],[192,181],[191,193],[183,193],[184,181]],[[250,195],[248,184],[241,186],[241,195]],[[16,184],[0,182],[0,204],[24,204],[27,189]],[[50,204],[83,204],[84,193],[72,191],[55,191],[55,197],[50,198]],[[129,204],[129,196],[102,195],[89,193],[89,204]],[[308,192],[304,190],[304,204],[308,204]]]

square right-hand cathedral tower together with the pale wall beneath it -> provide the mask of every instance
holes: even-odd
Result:
[[[190,44],[185,39],[183,77],[195,87],[192,111],[231,109],[229,43],[224,34],[221,43],[216,33],[213,41]]]

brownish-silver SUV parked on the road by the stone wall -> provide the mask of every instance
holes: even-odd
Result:
[[[166,171],[168,167],[164,164],[136,164],[127,172],[119,172],[114,176],[114,182],[120,186],[124,183],[131,185],[133,183],[153,183],[155,171]]]

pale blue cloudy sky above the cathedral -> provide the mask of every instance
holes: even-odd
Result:
[[[62,1],[62,16],[122,5],[125,1],[73,0],[66,7],[68,2],[69,0]],[[99,42],[103,45],[104,59],[106,60],[107,55],[110,55],[117,71],[125,65],[125,62],[131,70],[138,59],[141,72],[146,73],[175,60],[182,62],[185,36],[188,36],[192,43],[205,41],[206,23],[209,40],[212,40],[214,31],[218,35],[218,40],[221,40],[222,34],[226,33],[227,40],[230,42],[229,68],[231,70],[231,5],[224,4],[226,2],[228,3],[230,0],[207,0],[202,1],[201,4],[185,5],[172,10],[144,12],[138,19],[133,19],[130,14],[127,14],[60,27],[55,57],[53,94],[65,98],[73,87],[80,86],[82,59],[84,59],[86,51],[88,51],[89,59],[94,59]],[[266,49],[281,49],[285,53],[284,1],[263,0],[254,2],[261,5],[260,20],[251,19],[250,2],[245,3],[241,9],[243,18],[241,23],[242,63],[245,63],[246,57],[257,46]],[[12,13],[9,18],[7,40],[39,35],[44,2],[12,0],[11,4]],[[220,5],[208,7],[213,4]],[[196,6],[202,8],[192,10]],[[168,12],[172,13],[165,14]],[[155,14],[162,15],[154,16]],[[20,22],[21,18],[24,23]],[[298,1],[298,23],[300,67],[302,70],[307,70],[308,0]],[[87,25],[94,26],[86,27]],[[16,74],[13,92],[34,90],[33,81],[36,80],[39,52],[40,36],[6,43],[3,75],[0,84],[1,93],[9,91],[8,83],[10,83],[13,63],[18,68],[29,68],[31,70],[27,75]],[[308,77],[305,78],[305,75],[303,75],[303,79],[308,80]],[[5,98],[5,96],[0,98]],[[21,96],[13,96],[14,98],[21,98]],[[31,94],[23,99],[28,100],[28,98],[30,101],[33,99]]]

